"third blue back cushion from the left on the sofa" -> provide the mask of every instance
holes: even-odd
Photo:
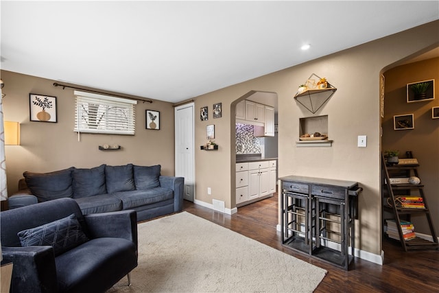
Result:
[[[117,191],[134,190],[132,164],[121,166],[105,166],[105,178],[108,194]]]

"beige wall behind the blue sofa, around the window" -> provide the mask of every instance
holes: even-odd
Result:
[[[163,175],[174,175],[174,108],[167,102],[138,102],[136,134],[78,134],[75,124],[73,89],[55,87],[55,80],[1,71],[5,83],[3,114],[7,121],[21,124],[21,145],[6,145],[8,193],[17,190],[24,171],[50,172],[66,167],[108,165],[162,165]],[[56,97],[58,123],[29,121],[29,93]],[[145,129],[145,110],[158,110],[160,130]],[[99,145],[121,145],[121,150],[102,151]]]

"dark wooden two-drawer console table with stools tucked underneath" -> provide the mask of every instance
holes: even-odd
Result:
[[[348,270],[354,259],[358,183],[280,178],[282,244]]]

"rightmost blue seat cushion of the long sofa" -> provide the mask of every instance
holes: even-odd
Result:
[[[169,188],[156,187],[152,189],[140,189],[127,192],[115,192],[112,194],[122,201],[123,209],[141,207],[145,204],[153,204],[174,198],[174,191]]]

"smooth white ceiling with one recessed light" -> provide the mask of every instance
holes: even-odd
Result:
[[[1,69],[181,102],[436,19],[438,1],[3,0]]]

